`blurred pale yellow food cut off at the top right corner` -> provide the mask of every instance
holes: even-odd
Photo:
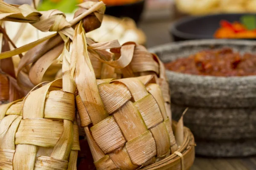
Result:
[[[191,15],[256,12],[256,0],[175,0],[180,12]]]

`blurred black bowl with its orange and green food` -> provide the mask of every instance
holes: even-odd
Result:
[[[175,41],[196,39],[256,39],[256,14],[212,14],[186,17],[172,24]]]

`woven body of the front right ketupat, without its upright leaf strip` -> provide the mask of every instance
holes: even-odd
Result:
[[[81,126],[98,170],[134,170],[177,150],[162,92],[153,78],[97,80],[108,113],[103,120],[87,112],[76,96]]]

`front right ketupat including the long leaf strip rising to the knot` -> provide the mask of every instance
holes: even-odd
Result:
[[[96,168],[134,170],[169,156],[177,144],[160,87],[150,83],[154,76],[96,80],[84,33],[80,23],[71,65],[81,126]]]

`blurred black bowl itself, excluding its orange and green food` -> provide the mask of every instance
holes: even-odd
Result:
[[[250,16],[256,17],[255,14],[212,14],[198,17],[186,17],[173,23],[170,28],[170,34],[175,41],[180,40],[197,40],[197,39],[212,39],[215,32],[220,28],[222,20],[226,20],[230,23],[240,22],[241,17]],[[227,34],[227,33],[225,33]],[[228,35],[227,35],[228,36]],[[244,36],[244,37],[243,37]],[[230,37],[222,37],[230,38]],[[248,35],[241,35],[240,37],[247,39]],[[252,37],[251,38],[256,38]]]

